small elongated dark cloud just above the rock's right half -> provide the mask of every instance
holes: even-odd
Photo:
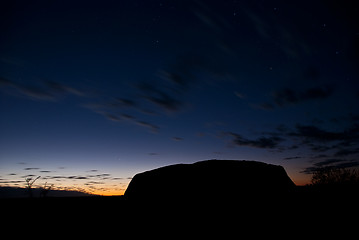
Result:
[[[279,143],[283,141],[283,139],[278,136],[260,137],[255,140],[250,140],[236,133],[229,132],[227,134],[234,137],[232,141],[238,146],[273,149],[278,147]]]

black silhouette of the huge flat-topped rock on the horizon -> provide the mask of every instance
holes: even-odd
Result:
[[[136,174],[125,198],[136,201],[249,200],[283,196],[295,184],[282,166],[256,161],[208,160]]]

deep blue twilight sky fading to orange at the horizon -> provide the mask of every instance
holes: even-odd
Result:
[[[207,159],[298,185],[358,167],[354,2],[1,1],[0,186],[123,194]]]

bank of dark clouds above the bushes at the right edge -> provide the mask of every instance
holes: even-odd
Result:
[[[263,137],[255,140],[246,139],[239,134],[228,133],[233,143],[239,146],[251,146],[258,148],[277,148],[278,150],[292,151],[298,146],[306,146],[315,153],[311,156],[296,153],[293,157],[283,160],[308,159],[310,164],[301,173],[312,174],[322,168],[348,168],[358,167],[359,161],[355,158],[359,155],[359,125],[348,121],[349,126],[341,131],[326,130],[315,125],[297,124],[290,128],[283,124],[279,125],[273,132],[264,132]],[[279,143],[283,144],[279,145]],[[291,143],[291,146],[286,143]],[[293,145],[293,143],[295,143]],[[296,146],[295,148],[293,146]],[[325,152],[325,153],[322,153]]]

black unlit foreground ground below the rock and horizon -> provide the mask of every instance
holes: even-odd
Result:
[[[30,233],[52,229],[51,236],[72,229],[82,238],[83,234],[91,237],[101,233],[138,238],[166,235],[166,239],[227,239],[233,234],[235,238],[250,234],[249,239],[323,239],[334,234],[346,239],[357,231],[359,216],[357,191],[309,187],[296,187],[294,192],[270,200],[262,196],[245,202],[218,197],[163,202],[124,197],[48,197],[2,199],[0,203],[5,226],[18,226],[23,233],[28,226]]]

